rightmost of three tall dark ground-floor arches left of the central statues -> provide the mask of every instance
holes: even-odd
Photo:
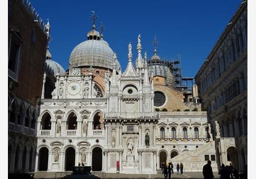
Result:
[[[102,171],[102,149],[95,147],[93,149],[93,158],[91,162],[92,171]]]

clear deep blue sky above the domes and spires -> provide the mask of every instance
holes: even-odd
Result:
[[[31,0],[46,22],[51,24],[52,59],[68,69],[69,55],[86,40],[91,30],[91,10],[105,26],[104,39],[117,53],[122,71],[127,65],[127,46],[132,42],[133,61],[137,57],[137,36],[141,34],[143,54],[153,54],[154,35],[159,41],[158,55],[181,55],[183,77],[194,77],[232,18],[241,0],[194,1],[52,1]]]

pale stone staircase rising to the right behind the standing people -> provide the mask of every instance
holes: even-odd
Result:
[[[172,162],[174,169],[176,169],[177,163],[183,163],[184,172],[202,172],[202,167],[207,163],[204,155],[215,155],[215,161],[212,161],[212,169],[213,171],[218,171],[215,141],[210,141],[203,146],[198,147],[196,150],[182,152],[176,157],[171,158],[168,162]]]

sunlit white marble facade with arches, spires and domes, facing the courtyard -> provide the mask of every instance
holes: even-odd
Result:
[[[166,161],[182,162],[184,171],[201,171],[209,159],[217,170],[207,112],[197,102],[184,102],[170,69],[157,62],[156,50],[151,59],[146,53],[143,58],[141,35],[137,52],[134,66],[128,45],[122,72],[93,24],[87,40],[71,52],[65,74],[57,67],[50,97],[44,73],[35,171],[69,171],[84,163],[93,171],[156,174]],[[188,106],[199,108],[183,111]]]

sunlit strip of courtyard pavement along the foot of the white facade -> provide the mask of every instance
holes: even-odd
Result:
[[[60,178],[71,172],[35,172],[34,178]],[[104,174],[102,172],[92,172],[101,178],[164,178],[163,174]],[[217,172],[213,172],[215,178],[219,178]],[[185,172],[183,175],[171,174],[171,178],[203,178],[202,172]]]

